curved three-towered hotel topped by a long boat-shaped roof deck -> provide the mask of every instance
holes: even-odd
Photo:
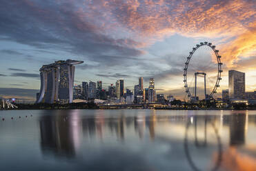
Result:
[[[40,68],[41,88],[37,103],[72,103],[75,66],[83,61],[67,59]]]

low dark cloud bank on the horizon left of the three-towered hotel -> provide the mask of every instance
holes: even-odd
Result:
[[[13,96],[13,97],[31,97],[35,98],[39,90],[35,89],[23,89],[23,88],[0,88],[1,96]]]

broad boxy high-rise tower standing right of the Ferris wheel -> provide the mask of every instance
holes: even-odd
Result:
[[[229,98],[242,98],[246,89],[245,73],[237,70],[228,71],[228,95]]]

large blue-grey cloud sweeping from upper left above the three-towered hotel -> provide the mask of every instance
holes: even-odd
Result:
[[[90,17],[68,1],[5,1],[0,7],[0,35],[43,51],[64,50],[78,54],[104,66],[121,64],[129,57],[143,54],[133,48],[138,44],[136,41],[113,39],[94,25]],[[108,60],[112,58],[104,57],[105,54],[115,54],[120,59],[111,63]]]

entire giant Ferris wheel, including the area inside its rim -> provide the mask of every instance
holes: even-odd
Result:
[[[188,99],[199,100],[199,92],[202,98],[213,99],[213,95],[217,93],[219,81],[221,80],[221,56],[219,50],[215,49],[212,43],[201,42],[197,44],[186,58],[184,67],[184,88]],[[208,59],[206,58],[208,54]],[[195,57],[197,56],[197,57]],[[193,83],[189,83],[190,81]],[[201,86],[199,86],[200,77],[203,78]],[[212,86],[211,86],[212,85]]]

